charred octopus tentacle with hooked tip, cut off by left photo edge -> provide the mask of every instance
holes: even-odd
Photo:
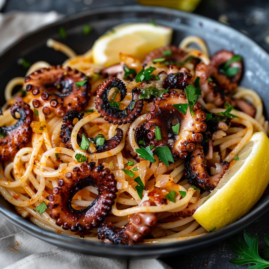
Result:
[[[25,146],[32,133],[31,122],[33,111],[25,102],[16,102],[10,109],[11,115],[18,120],[14,125],[0,127],[0,160],[8,160],[14,157],[18,150]],[[15,112],[19,113],[17,118]]]

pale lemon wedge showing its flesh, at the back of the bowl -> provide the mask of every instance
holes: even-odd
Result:
[[[106,67],[117,64],[120,52],[143,60],[149,51],[170,44],[172,34],[172,28],[151,23],[118,25],[94,42],[93,62]]]

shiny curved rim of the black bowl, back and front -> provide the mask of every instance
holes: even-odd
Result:
[[[62,26],[66,23],[72,23],[73,21],[80,20],[83,17],[88,17],[91,15],[97,14],[104,14],[104,13],[111,13],[111,12],[149,12],[149,13],[156,13],[156,14],[172,14],[172,16],[177,16],[179,18],[186,18],[186,19],[193,19],[195,21],[207,22],[216,25],[219,31],[229,31],[236,35],[240,35],[244,41],[248,42],[250,46],[257,47],[259,51],[264,55],[265,60],[269,63],[269,55],[260,45],[254,42],[251,38],[246,36],[245,34],[235,30],[234,28],[223,25],[220,22],[215,20],[196,15],[193,13],[186,13],[179,10],[173,10],[169,8],[159,8],[159,7],[152,7],[152,6],[140,6],[140,5],[124,5],[124,6],[109,6],[105,8],[96,8],[92,10],[86,10],[81,13],[78,13],[74,16],[65,18],[63,20],[59,20],[55,23],[43,26],[33,32],[25,34],[21,39],[15,41],[11,44],[8,48],[6,48],[2,53],[0,53],[0,59],[9,53],[14,48],[16,48],[22,41],[25,39],[40,33],[45,30],[49,30],[50,28]],[[72,27],[71,27],[72,28]],[[0,203],[0,215],[7,219],[9,222],[14,224],[15,226],[19,227],[23,231],[43,240],[48,243],[79,251],[85,254],[92,254],[96,256],[103,256],[103,257],[112,257],[117,259],[122,258],[132,258],[132,259],[141,259],[141,258],[152,258],[152,257],[164,257],[169,255],[174,255],[177,253],[184,253],[190,252],[201,247],[209,246],[215,244],[219,241],[227,239],[232,235],[237,234],[239,231],[242,231],[244,228],[249,226],[251,223],[256,221],[259,217],[262,216],[267,210],[269,210],[269,199],[263,202],[262,204],[258,204],[258,202],[254,205],[256,208],[252,208],[248,213],[246,213],[241,219],[237,220],[236,222],[224,227],[221,230],[218,230],[214,233],[207,234],[203,237],[197,237],[186,241],[179,241],[174,243],[167,243],[167,244],[156,244],[156,245],[110,245],[110,244],[102,244],[100,242],[92,242],[86,241],[83,239],[77,239],[71,236],[57,234],[55,232],[51,232],[45,229],[40,228],[39,226],[25,220],[19,214],[13,213],[9,209],[7,209],[4,205]],[[74,247],[75,246],[75,247]],[[106,253],[107,251],[107,253]]]

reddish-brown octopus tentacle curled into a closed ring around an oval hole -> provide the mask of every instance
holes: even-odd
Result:
[[[58,181],[59,188],[53,189],[48,196],[49,216],[56,220],[56,224],[63,225],[64,230],[72,232],[90,230],[97,227],[111,211],[114,199],[117,197],[117,181],[110,170],[102,164],[95,166],[94,162],[85,162],[75,167],[73,173],[67,173]],[[91,205],[81,210],[72,207],[73,196],[87,186],[97,188],[98,197]]]

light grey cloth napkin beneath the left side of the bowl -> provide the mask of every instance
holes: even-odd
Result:
[[[21,35],[63,15],[48,13],[0,13],[0,53]],[[36,59],[38,60],[38,59]],[[128,247],[128,246],[127,246]],[[0,269],[172,269],[162,261],[115,260],[66,250],[37,239],[0,216]]]

